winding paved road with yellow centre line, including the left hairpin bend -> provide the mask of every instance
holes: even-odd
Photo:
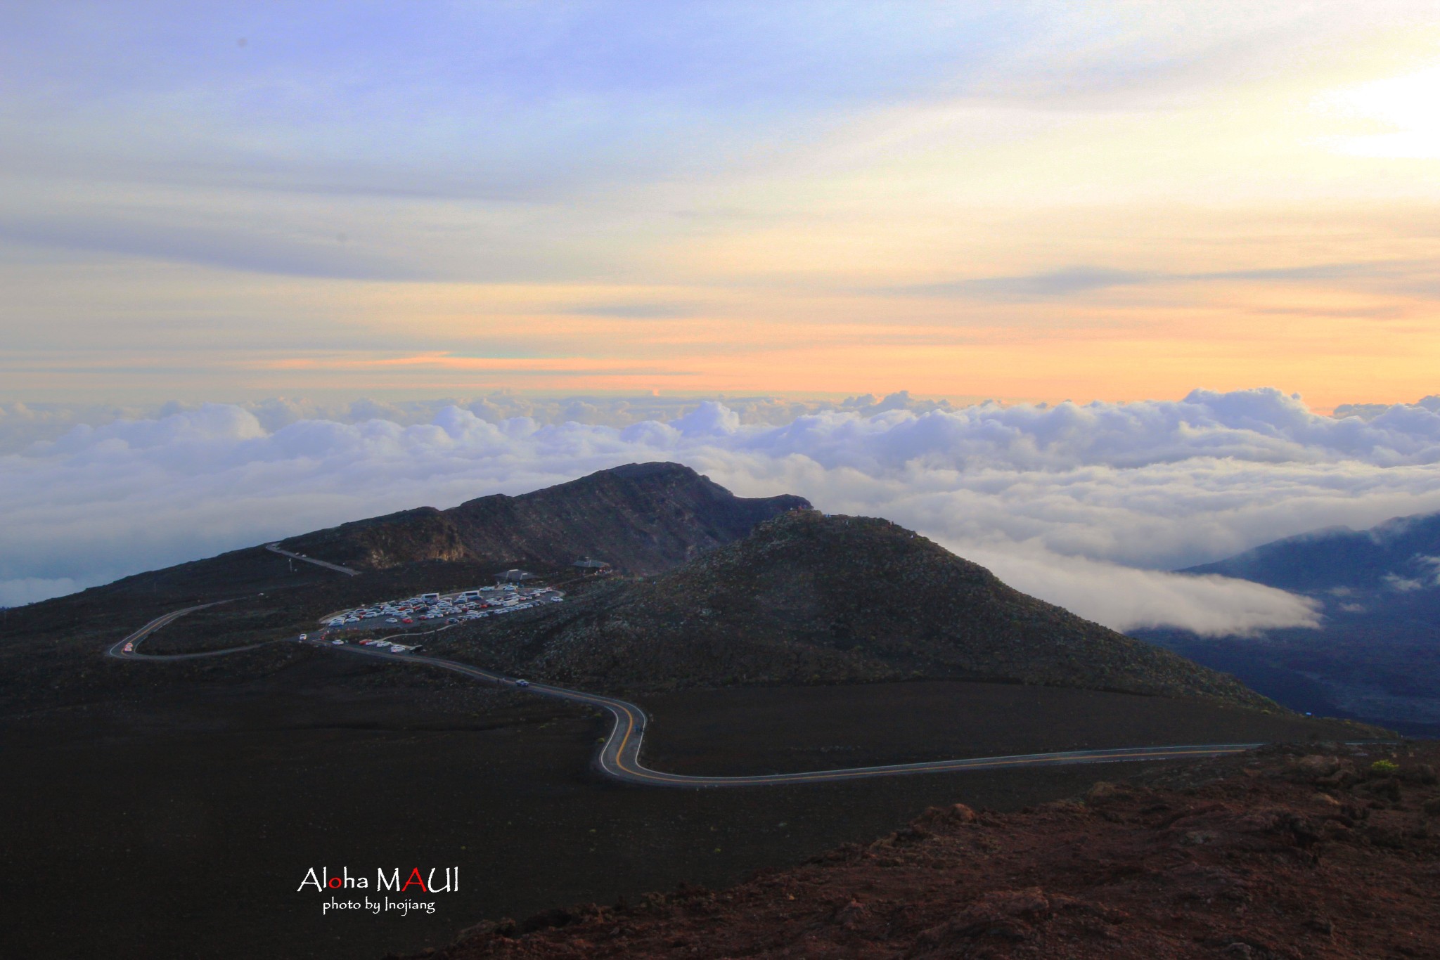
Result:
[[[228,603],[222,600],[220,603]],[[200,606],[184,607],[180,610],[171,610],[164,616],[158,616],[150,623],[144,625],[134,633],[125,636],[124,639],[114,643],[108,651],[108,656],[115,656],[120,659],[193,659],[199,656],[219,656],[222,653],[238,653],[240,651],[252,651],[258,646],[265,646],[265,643],[251,643],[248,646],[235,646],[225,651],[207,651],[203,653],[168,653],[168,655],[148,655],[135,651],[147,636],[177,620],[186,613],[194,610],[203,610],[204,607],[215,606],[213,603],[203,603]],[[285,640],[269,640],[269,643],[281,643]],[[524,681],[517,681],[507,678],[501,674],[492,671],[481,669],[478,666],[471,666],[469,664],[461,664],[459,661],[449,661],[439,656],[422,656],[418,653],[390,653],[380,649],[354,646],[350,643],[338,645],[328,643],[324,640],[304,640],[310,646],[323,646],[328,651],[338,651],[343,653],[350,653],[353,656],[372,656],[386,661],[399,661],[409,665],[425,665],[436,666],[439,669],[454,671],[456,674],[464,674],[472,679],[485,681],[495,684],[498,687],[508,687],[513,689],[523,689],[526,692],[539,694],[541,697],[554,697],[557,699],[566,699],[573,704],[585,704],[586,707],[595,707],[608,711],[615,720],[615,725],[611,728],[609,735],[605,738],[605,744],[600,747],[599,754],[595,759],[595,766],[606,776],[621,780],[625,783],[638,783],[645,786],[664,786],[664,787],[742,787],[742,786],[778,786],[778,784],[792,784],[792,783],[834,783],[840,780],[861,780],[867,777],[893,777],[901,774],[913,773],[946,773],[956,770],[1014,770],[1022,767],[1057,767],[1070,766],[1079,763],[1116,763],[1122,760],[1184,760],[1194,757],[1218,757],[1223,754],[1243,753],[1246,750],[1253,750],[1261,744],[1259,743],[1221,743],[1221,744],[1191,744],[1191,746],[1172,746],[1172,747],[1119,747],[1113,750],[1067,750],[1058,753],[1028,753],[1028,754],[1014,754],[1007,757],[966,757],[960,760],[930,760],[926,763],[893,763],[877,767],[848,767],[841,770],[811,770],[805,773],[763,773],[753,776],[737,776],[737,777],[706,777],[706,776],[691,776],[684,773],[665,773],[662,770],[651,770],[639,761],[641,741],[645,735],[645,711],[635,704],[626,702],[624,699],[616,699],[615,697],[605,697],[602,694],[586,694],[577,689],[569,689],[564,687],[552,687],[549,684],[526,684]],[[127,649],[130,645],[130,649]],[[521,685],[524,684],[524,685]]]

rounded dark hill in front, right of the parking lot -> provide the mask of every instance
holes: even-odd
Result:
[[[1012,590],[919,534],[814,510],[559,616],[480,622],[441,648],[586,689],[923,676],[1274,708],[1230,676]]]

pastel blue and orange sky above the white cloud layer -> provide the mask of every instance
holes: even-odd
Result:
[[[1414,400],[1433,1],[0,4],[0,399]]]

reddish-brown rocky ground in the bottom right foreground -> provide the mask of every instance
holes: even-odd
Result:
[[[425,956],[1440,957],[1440,744],[1269,747]]]

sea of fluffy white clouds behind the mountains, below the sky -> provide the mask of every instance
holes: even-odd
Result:
[[[1117,629],[1318,625],[1313,602],[1169,570],[1440,511],[1440,397],[955,407],[556,399],[0,406],[0,604],[420,504],[675,461],[742,495],[887,517]]]

